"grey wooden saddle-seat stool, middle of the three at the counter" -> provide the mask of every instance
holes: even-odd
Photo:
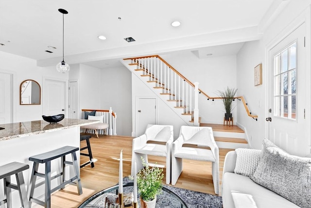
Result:
[[[77,147],[65,146],[65,147],[62,147],[62,148],[59,148],[53,151],[48,151],[42,154],[37,154],[35,156],[29,157],[29,160],[34,162],[32,174],[30,178],[30,184],[28,187],[28,199],[30,201],[30,205],[32,202],[35,202],[36,204],[44,206],[45,208],[51,208],[51,193],[58,189],[64,189],[65,185],[75,180],[77,180],[76,184],[78,188],[78,194],[79,195],[82,194],[79,165],[78,165],[77,156],[76,156],[76,151],[78,150],[79,148]],[[67,154],[71,154],[72,162],[66,161]],[[61,157],[62,172],[51,177],[51,161],[59,157]],[[44,174],[38,172],[39,163],[45,164]],[[65,180],[66,164],[73,165],[73,169],[75,171],[75,176],[69,179],[68,181]],[[45,181],[35,184],[37,176],[45,178]],[[51,180],[59,176],[62,177],[62,184],[51,189]],[[37,188],[38,186],[41,186],[42,184],[45,184],[44,202],[39,199],[34,198],[35,188]]]

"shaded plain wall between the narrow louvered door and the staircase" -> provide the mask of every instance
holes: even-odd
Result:
[[[101,69],[101,109],[117,115],[117,134],[132,135],[132,78],[125,67]]]

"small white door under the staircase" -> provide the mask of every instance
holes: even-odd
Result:
[[[155,124],[155,98],[138,98],[136,111],[136,136],[144,134],[148,124]]]

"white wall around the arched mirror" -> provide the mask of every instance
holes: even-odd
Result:
[[[13,74],[13,122],[42,120],[43,77],[68,80],[68,74],[60,74],[55,67],[37,67],[36,60],[0,51],[0,71]],[[19,85],[26,79],[34,79],[41,87],[41,105],[19,105]]]

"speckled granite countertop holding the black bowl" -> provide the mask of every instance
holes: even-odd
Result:
[[[0,127],[5,128],[0,130],[0,141],[39,133],[59,131],[98,122],[99,121],[87,119],[64,118],[62,121],[54,124],[50,124],[44,120],[0,124]]]

